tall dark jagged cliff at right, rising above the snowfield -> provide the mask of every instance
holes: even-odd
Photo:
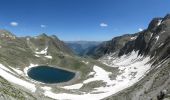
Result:
[[[139,33],[134,41],[129,41],[120,50],[119,56],[132,50],[139,51],[139,55],[155,56],[156,61],[168,58],[170,55],[170,17],[154,18],[148,29]]]

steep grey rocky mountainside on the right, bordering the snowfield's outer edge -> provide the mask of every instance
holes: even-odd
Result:
[[[107,100],[170,99],[170,15],[167,14],[164,18],[154,18],[148,28],[138,34],[135,40],[125,43],[114,56],[121,57],[131,52],[138,52],[138,57],[150,57],[148,63],[152,63],[151,69],[134,86],[107,98]],[[113,56],[108,55],[100,60],[111,64],[109,57]]]

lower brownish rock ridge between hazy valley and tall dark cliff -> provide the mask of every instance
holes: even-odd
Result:
[[[119,51],[124,45],[129,42],[136,39],[138,36],[138,33],[136,34],[125,34],[123,36],[118,36],[113,38],[110,41],[105,41],[101,43],[100,45],[91,48],[86,55],[89,55],[93,58],[99,58],[105,54]]]

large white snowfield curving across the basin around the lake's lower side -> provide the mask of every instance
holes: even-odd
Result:
[[[45,50],[44,50],[45,51]],[[45,52],[41,53],[45,53]],[[50,86],[41,87],[44,92],[43,94],[47,97],[53,99],[72,99],[72,100],[99,100],[111,96],[123,89],[126,89],[136,82],[138,82],[142,77],[146,75],[149,71],[151,64],[148,63],[150,57],[138,56],[138,52],[133,51],[131,54],[123,55],[120,58],[116,58],[113,54],[105,55],[101,59],[100,62],[109,65],[110,67],[117,67],[119,69],[119,73],[115,79],[110,79],[110,75],[112,72],[106,71],[100,66],[93,66],[93,71],[90,73],[92,77],[76,84],[61,86],[63,89],[68,90],[76,90],[81,94],[73,94],[73,93],[56,93],[53,92]],[[31,64],[29,67],[26,67],[23,71],[19,69],[13,69],[18,74],[22,74],[27,76],[27,71],[29,68],[35,66],[36,64]],[[17,78],[7,67],[4,67],[2,64],[0,65],[0,75],[4,77],[6,80],[21,85],[32,92],[36,92],[36,83],[28,82],[24,79]],[[95,81],[103,81],[106,83],[105,86],[100,86],[92,89],[90,92],[82,92],[79,90],[83,85],[88,84],[90,82]]]

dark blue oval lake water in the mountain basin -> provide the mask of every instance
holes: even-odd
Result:
[[[28,76],[43,83],[61,83],[74,78],[75,73],[49,66],[37,66],[28,71]]]

